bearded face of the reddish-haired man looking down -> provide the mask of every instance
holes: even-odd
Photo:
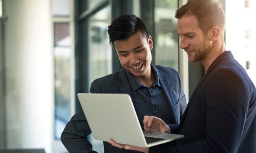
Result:
[[[187,53],[188,60],[193,63],[204,60],[212,42],[198,27],[197,18],[193,15],[183,16],[178,19],[177,25],[181,37],[180,47]]]

